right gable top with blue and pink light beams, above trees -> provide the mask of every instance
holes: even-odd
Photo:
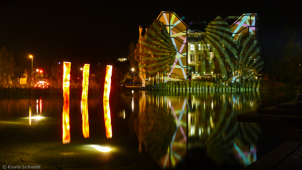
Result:
[[[236,39],[240,33],[251,32],[258,39],[258,15],[257,14],[243,14],[241,16],[229,16],[227,19],[237,19],[231,26],[233,37]]]

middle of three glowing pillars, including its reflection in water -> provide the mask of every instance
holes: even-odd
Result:
[[[82,129],[83,129],[84,138],[89,138],[88,106],[87,106],[89,66],[90,64],[85,64],[85,66],[83,67]]]

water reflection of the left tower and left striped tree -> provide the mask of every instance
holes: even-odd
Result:
[[[140,93],[139,111],[133,112],[129,121],[140,143],[139,151],[144,147],[163,168],[175,165],[186,153],[186,98]]]

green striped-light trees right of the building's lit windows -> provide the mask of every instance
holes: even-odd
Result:
[[[245,83],[262,68],[260,48],[253,34],[242,34],[234,40],[232,29],[219,16],[205,30],[205,38],[199,42],[206,58],[201,63],[201,74],[206,69],[216,70],[223,80],[235,76],[239,83]]]

